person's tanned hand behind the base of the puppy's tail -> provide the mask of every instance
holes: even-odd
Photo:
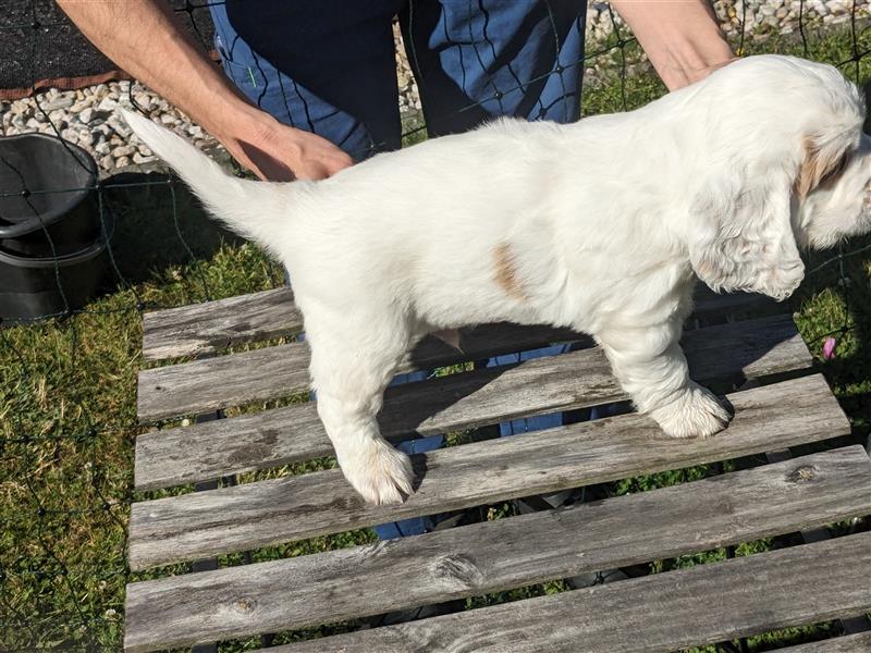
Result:
[[[262,111],[225,122],[228,128],[213,134],[236,161],[265,181],[322,180],[354,163],[326,138],[289,127]]]

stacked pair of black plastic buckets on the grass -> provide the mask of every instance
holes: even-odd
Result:
[[[0,319],[82,307],[99,286],[106,250],[97,163],[45,134],[0,138]]]

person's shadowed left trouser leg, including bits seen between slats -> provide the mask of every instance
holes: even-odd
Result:
[[[334,34],[339,25],[329,20],[318,23],[322,29],[319,33],[312,24],[312,19],[317,17],[312,13],[316,11],[314,5],[292,7],[293,4],[267,8],[268,11],[278,11],[281,14],[269,16],[270,20],[266,21],[279,29],[281,41],[270,42],[269,38],[265,38],[262,42],[262,49],[271,50],[270,56],[275,59],[274,62],[256,51],[236,29],[240,27],[244,30],[256,11],[243,14],[237,9],[231,21],[224,4],[210,7],[214,22],[214,45],[228,76],[253,102],[278,120],[323,136],[355,160],[366,159],[381,150],[398,148],[401,128],[391,32],[391,17],[395,11],[391,5],[398,3],[383,0],[380,7],[369,7],[368,13],[358,16],[359,24],[353,28],[347,27],[355,36],[351,44],[345,34]],[[232,10],[233,5],[230,7]],[[323,12],[322,7],[317,12],[320,12],[319,16],[330,16],[329,12]],[[342,20],[347,26],[353,16],[345,11]],[[263,16],[257,16],[257,24],[263,21]],[[287,25],[298,25],[300,28],[305,26],[307,32],[305,35],[289,33]],[[298,38],[300,36],[304,38]],[[382,42],[389,46],[387,53],[379,49]],[[289,49],[289,44],[295,44],[299,51]],[[322,48],[316,47],[318,45]],[[347,76],[348,65],[342,64],[347,63],[347,59],[353,61],[355,70],[352,71],[351,78],[343,79]],[[316,62],[320,66],[330,62],[330,65],[312,69],[306,61]],[[297,75],[297,66],[306,84]],[[322,74],[318,73],[319,70]],[[293,75],[289,74],[291,71]],[[343,83],[336,84],[336,81]],[[354,85],[359,84],[364,84],[365,88],[349,93],[356,88]],[[323,99],[324,97],[329,97],[331,101]],[[290,279],[286,281],[290,283]],[[304,338],[305,334],[300,334],[300,340]],[[426,371],[400,374],[392,384],[419,381],[426,377]],[[434,435],[402,442],[398,448],[407,454],[416,454],[439,448],[442,443],[443,438]],[[432,525],[433,518],[417,517],[377,526],[375,530],[380,539],[387,540],[420,534]]]

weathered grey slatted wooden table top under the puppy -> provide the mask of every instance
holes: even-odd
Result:
[[[134,570],[338,533],[514,497],[680,469],[849,433],[788,317],[758,298],[702,295],[684,345],[694,377],[726,392],[735,419],[706,441],[675,442],[636,414],[415,458],[417,492],[367,506],[339,470],[134,503]],[[723,315],[749,315],[723,320]],[[764,317],[757,317],[757,316]],[[148,313],[144,357],[206,359],[143,370],[144,422],[305,392],[308,352],[290,343],[220,355],[302,326],[289,289]],[[392,387],[379,417],[391,440],[626,398],[585,336],[491,325],[464,354],[427,340],[404,370],[554,342],[569,354]],[[744,390],[736,390],[743,387]],[[871,534],[827,540],[823,525],[871,514],[860,446],[569,508],[300,557],[127,586],[127,651],[154,651],[377,615],[795,531],[821,540],[690,569],[516,601],[270,651],[666,651],[871,611]],[[163,428],[136,443],[137,490],[203,483],[331,453],[311,403]],[[776,460],[776,461],[775,461]],[[854,629],[856,628],[854,625]],[[796,651],[866,651],[867,634]]]

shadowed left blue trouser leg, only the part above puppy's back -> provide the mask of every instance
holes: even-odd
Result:
[[[369,41],[390,38],[395,4],[396,0],[382,0],[344,11],[345,23],[356,23],[347,35],[335,35],[332,16],[319,13],[312,3],[217,3],[209,11],[224,71],[252,102],[287,125],[323,136],[360,161],[401,144],[392,48],[387,53],[368,48],[366,58],[358,53]],[[253,25],[259,26],[253,33],[257,38],[243,37],[241,32]],[[259,41],[274,46],[275,40],[284,47],[270,56],[257,47]],[[331,64],[323,66],[326,61]],[[338,94],[335,79],[347,73],[352,62],[353,78],[366,88]],[[318,70],[321,74],[312,72]]]

